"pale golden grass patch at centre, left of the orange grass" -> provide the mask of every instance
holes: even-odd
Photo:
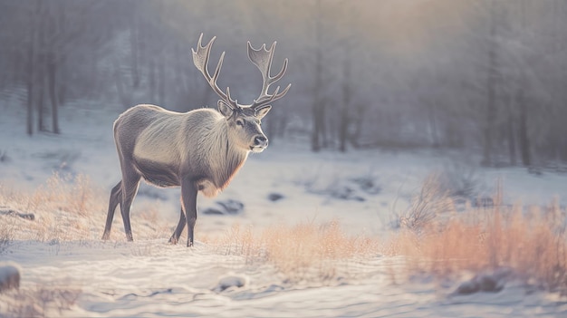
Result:
[[[243,255],[251,265],[274,265],[294,282],[322,282],[356,275],[349,273],[349,264],[378,251],[376,238],[349,236],[336,221],[322,226],[271,226],[259,233],[251,227],[233,226],[226,236],[209,244],[222,254]]]

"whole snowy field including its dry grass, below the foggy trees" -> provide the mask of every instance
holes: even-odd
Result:
[[[447,204],[444,191],[424,192],[424,180],[447,170],[447,162],[465,162],[461,157],[312,154],[274,140],[218,198],[198,199],[199,211],[226,199],[244,208],[199,214],[197,246],[167,243],[178,221],[178,190],[145,186],[132,208],[135,241],[125,242],[117,211],[111,240],[103,242],[108,193],[120,179],[111,138],[117,114],[66,111],[60,137],[28,138],[13,120],[20,117],[0,118],[8,158],[0,164],[0,260],[22,268],[20,289],[0,294],[0,315],[567,313],[561,284],[552,284],[565,274],[564,175],[473,165],[475,196],[493,205],[475,206],[472,197]],[[498,196],[496,180],[504,184]],[[34,219],[21,217],[28,214]],[[496,282],[501,290],[456,293],[476,284],[478,273],[495,277],[491,270],[510,273]]]

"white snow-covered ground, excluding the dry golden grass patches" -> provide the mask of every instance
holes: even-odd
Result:
[[[118,111],[62,110],[62,135],[25,135],[24,110],[0,104],[0,186],[31,190],[53,171],[84,174],[109,192],[120,180],[112,140]],[[460,281],[428,276],[401,279],[403,259],[371,255],[338,261],[347,275],[332,280],[290,281],[273,265],[250,263],[219,253],[203,237],[220,236],[234,225],[262,230],[274,225],[327,224],[338,220],[358,236],[384,236],[431,172],[470,173],[479,197],[490,197],[501,180],[505,203],[566,205],[567,175],[543,170],[485,169],[463,154],[432,151],[352,151],[313,154],[300,142],[273,140],[252,155],[218,198],[198,198],[197,246],[168,245],[178,221],[178,189],[140,188],[132,208],[152,204],[170,230],[157,238],[125,242],[120,213],[110,242],[104,224],[77,240],[16,240],[0,254],[23,269],[23,290],[51,286],[77,290],[69,310],[44,309],[49,316],[219,316],[219,317],[536,317],[565,316],[567,303],[556,294],[526,290],[508,282],[497,294],[452,294]],[[460,172],[459,172],[460,171]],[[276,197],[281,197],[274,200]],[[272,198],[272,199],[270,199]],[[107,197],[104,198],[105,200]],[[244,204],[235,215],[208,215],[207,207],[233,199]],[[474,199],[474,198],[470,198]],[[106,201],[102,203],[106,205]],[[32,212],[35,211],[24,211]],[[97,210],[103,219],[106,211]],[[38,212],[38,214],[40,214]],[[0,216],[2,217],[2,216]],[[5,221],[8,217],[0,218]],[[41,215],[32,222],[42,222]],[[141,236],[143,237],[143,236]],[[70,292],[72,293],[72,292]],[[4,297],[4,298],[2,298]],[[7,302],[5,295],[0,301]],[[9,304],[0,302],[0,316]],[[6,313],[7,314],[7,313]]]

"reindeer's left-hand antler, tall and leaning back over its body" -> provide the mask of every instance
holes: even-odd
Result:
[[[203,40],[203,34],[199,36],[199,42],[197,43],[197,52],[191,49],[191,51],[193,52],[193,63],[195,63],[197,70],[199,70],[203,74],[203,76],[205,76],[205,79],[207,80],[213,91],[215,91],[216,94],[223,101],[225,101],[229,107],[231,107],[233,110],[236,110],[239,109],[240,106],[238,106],[238,103],[235,100],[230,98],[230,89],[226,87],[225,93],[216,85],[216,80],[218,79],[220,68],[223,66],[223,60],[225,59],[225,52],[220,55],[220,59],[218,60],[218,64],[216,64],[216,69],[213,76],[211,76],[211,74],[208,72],[208,58],[211,53],[211,46],[215,42],[215,39],[216,36],[213,36],[213,38],[207,43],[207,45],[202,46],[201,42]]]

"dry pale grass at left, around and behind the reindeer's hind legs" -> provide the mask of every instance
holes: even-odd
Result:
[[[0,215],[0,248],[9,240],[73,241],[98,240],[106,221],[109,193],[94,187],[85,175],[53,174],[34,191],[18,191],[0,181],[0,207],[33,213],[35,220]],[[131,224],[138,238],[164,238],[170,229],[158,217],[156,205],[133,209]],[[120,208],[112,233],[123,236]]]

